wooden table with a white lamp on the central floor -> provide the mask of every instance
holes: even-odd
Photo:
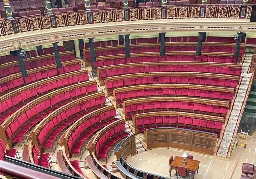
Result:
[[[172,173],[172,169],[174,170],[178,170],[179,166],[183,166],[187,169],[187,173],[188,173],[188,177],[189,178],[194,178],[195,173],[198,173],[198,169],[199,169],[199,163],[200,161],[198,160],[191,160],[191,159],[186,159],[187,161],[187,165],[182,165],[182,161],[184,160],[184,158],[176,156],[174,158],[174,160],[172,161],[171,165],[170,165],[170,175]]]

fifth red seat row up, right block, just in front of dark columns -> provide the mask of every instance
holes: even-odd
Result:
[[[208,67],[205,70],[205,66]],[[216,69],[219,68],[218,70]],[[225,67],[225,70],[223,70]],[[214,62],[143,62],[120,65],[102,66],[97,68],[101,84],[106,77],[147,72],[203,72],[217,74],[240,75],[242,64],[214,63]],[[151,69],[152,68],[152,69]],[[184,69],[183,69],[184,68]]]

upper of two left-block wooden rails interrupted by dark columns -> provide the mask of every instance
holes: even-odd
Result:
[[[65,52],[60,52],[59,55],[70,55],[70,54],[74,54],[74,51],[65,51]],[[41,55],[41,56],[36,56],[36,57],[31,57],[31,58],[26,58],[24,59],[24,62],[30,62],[30,61],[35,61],[35,60],[39,60],[39,59],[44,59],[44,58],[49,58],[49,57],[55,57],[54,54],[47,54],[47,55]],[[13,62],[9,62],[9,63],[4,63],[0,65],[0,69],[1,68],[6,68],[9,66],[14,66],[14,65],[19,65],[18,60],[17,61],[13,61]]]

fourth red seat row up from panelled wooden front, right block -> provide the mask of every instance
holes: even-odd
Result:
[[[226,74],[206,74],[194,72],[156,72],[126,74],[105,79],[108,95],[116,88],[147,84],[200,84],[220,87],[237,87],[239,76]]]

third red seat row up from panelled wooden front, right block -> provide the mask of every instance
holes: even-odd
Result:
[[[114,89],[113,100],[117,105],[122,105],[123,101],[144,97],[193,97],[214,100],[231,101],[234,96],[233,88],[202,86],[202,85],[181,85],[181,84],[154,84],[138,85]]]

